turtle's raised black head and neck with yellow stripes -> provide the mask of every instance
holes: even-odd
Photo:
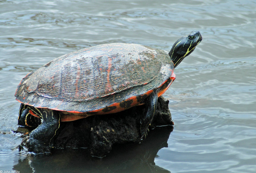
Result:
[[[193,52],[196,46],[202,41],[202,35],[199,31],[192,31],[190,34],[185,35],[178,39],[172,46],[169,55],[174,63],[174,68],[180,62]]]

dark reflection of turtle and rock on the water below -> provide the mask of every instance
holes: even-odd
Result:
[[[56,149],[52,155],[20,160],[13,170],[20,172],[170,172],[154,163],[157,152],[168,147],[173,126],[156,127],[141,144],[115,145],[104,158],[91,157],[86,149]]]

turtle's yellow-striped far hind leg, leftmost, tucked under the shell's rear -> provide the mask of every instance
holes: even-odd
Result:
[[[41,124],[40,118],[37,118],[29,113],[28,105],[24,105],[21,103],[20,111],[19,111],[19,118],[18,118],[18,125],[23,127],[37,127]]]

